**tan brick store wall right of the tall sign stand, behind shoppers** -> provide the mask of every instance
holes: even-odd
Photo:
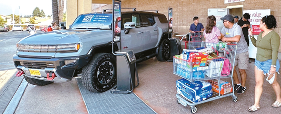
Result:
[[[179,34],[189,32],[190,24],[193,23],[193,17],[198,16],[199,22],[206,25],[207,9],[221,9],[229,6],[243,5],[242,10],[264,10],[270,9],[270,14],[276,18],[277,28],[275,32],[281,36],[281,10],[278,10],[281,5],[280,0],[245,0],[244,2],[225,4],[224,0],[123,0],[122,8],[135,7],[136,10],[159,10],[168,17],[168,8],[173,8],[173,31]],[[241,18],[242,15],[239,16]],[[280,43],[281,44],[281,43]],[[281,46],[279,48],[281,52]]]

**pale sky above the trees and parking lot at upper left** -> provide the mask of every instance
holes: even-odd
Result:
[[[66,2],[66,0],[64,0],[64,2]],[[66,3],[64,3],[64,5],[66,5]],[[13,14],[13,8],[15,15],[32,15],[36,7],[43,10],[46,16],[52,15],[51,0],[1,0],[0,15]]]

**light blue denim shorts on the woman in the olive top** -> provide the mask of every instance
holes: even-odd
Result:
[[[269,70],[271,68],[271,62],[272,62],[272,60],[266,60],[264,62],[255,60],[255,66],[257,66],[257,69],[259,71],[263,71],[263,74],[266,75],[266,74],[269,74]],[[279,68],[280,68],[280,64],[279,64],[279,61],[277,60],[276,61],[276,72],[278,74],[279,74],[279,72],[278,72]]]

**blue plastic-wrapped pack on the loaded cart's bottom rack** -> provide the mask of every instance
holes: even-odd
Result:
[[[192,102],[200,102],[213,95],[212,85],[205,81],[189,82],[186,79],[176,81],[177,92]]]

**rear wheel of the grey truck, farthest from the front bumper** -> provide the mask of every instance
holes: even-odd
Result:
[[[157,60],[160,62],[165,62],[170,59],[170,41],[168,39],[163,39],[159,45],[159,50],[157,54]]]

